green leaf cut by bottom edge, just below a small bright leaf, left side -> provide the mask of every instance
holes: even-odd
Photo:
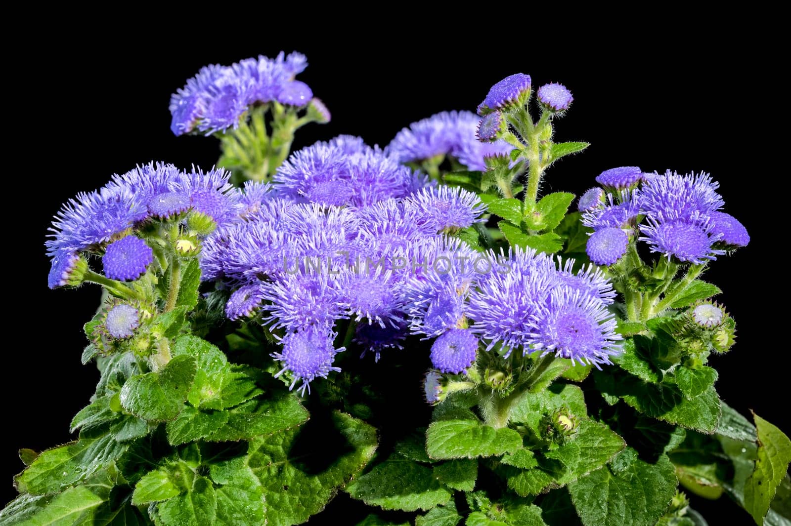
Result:
[[[159,502],[149,509],[157,524],[206,526],[217,518],[217,497],[209,479],[196,476],[187,493]],[[158,519],[158,520],[157,520]]]

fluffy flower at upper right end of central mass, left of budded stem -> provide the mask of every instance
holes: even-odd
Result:
[[[413,210],[418,224],[429,232],[457,231],[483,221],[486,205],[478,194],[459,186],[424,188],[404,200],[406,209]]]

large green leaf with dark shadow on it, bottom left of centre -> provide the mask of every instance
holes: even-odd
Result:
[[[337,411],[331,425],[308,425],[250,443],[247,463],[262,484],[266,524],[305,522],[368,464],[377,447],[376,430]],[[301,446],[303,438],[308,443]]]

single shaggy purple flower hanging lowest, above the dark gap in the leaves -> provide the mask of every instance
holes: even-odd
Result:
[[[339,372],[340,368],[332,366],[335,355],[346,348],[336,349],[333,342],[335,333],[324,327],[311,325],[294,333],[288,333],[282,339],[282,351],[273,353],[271,356],[278,362],[283,363],[283,368],[275,374],[278,378],[286,371],[290,371],[292,381],[289,389],[297,385],[297,381],[302,381],[298,391],[301,396],[305,396],[305,389],[310,393],[310,382],[316,378],[327,378],[331,371]]]

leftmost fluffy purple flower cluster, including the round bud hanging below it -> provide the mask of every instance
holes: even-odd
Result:
[[[47,239],[52,258],[51,288],[74,282],[83,272],[80,254],[101,256],[104,275],[112,280],[136,280],[153,262],[153,250],[134,231],[151,221],[181,220],[193,210],[218,225],[236,218],[240,196],[222,170],[189,172],[172,164],[149,163],[112,181],[100,190],[80,193],[55,216]]]

